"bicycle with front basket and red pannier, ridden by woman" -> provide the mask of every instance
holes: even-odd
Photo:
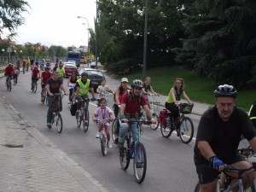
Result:
[[[172,135],[172,131],[176,130],[177,133],[179,133],[180,140],[183,143],[188,144],[189,142],[191,142],[194,136],[194,124],[192,122],[192,119],[190,119],[189,117],[186,117],[185,114],[191,113],[193,106],[194,104],[180,103],[179,105],[180,118],[176,119],[176,122],[175,122],[172,117],[172,122],[175,122],[172,124],[169,119],[169,116],[170,116],[169,113],[171,112],[168,111],[166,114],[166,117],[160,122],[160,131],[162,136],[168,138]]]

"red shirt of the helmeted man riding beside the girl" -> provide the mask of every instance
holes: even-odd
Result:
[[[139,98],[137,98],[137,96],[131,96],[131,101],[128,103],[128,93],[126,92],[122,96],[121,104],[125,103],[125,113],[130,113],[130,118],[135,117],[135,113],[137,113],[140,110],[140,106],[148,105],[144,96],[141,96],[140,100],[141,103],[138,103]]]

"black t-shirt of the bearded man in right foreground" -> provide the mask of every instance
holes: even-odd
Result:
[[[197,141],[207,141],[218,158],[229,164],[236,154],[241,135],[248,141],[256,137],[252,121],[246,112],[235,107],[230,119],[224,122],[219,118],[216,106],[208,109],[201,116],[198,125],[194,148],[195,164],[208,163],[208,160],[201,155]]]

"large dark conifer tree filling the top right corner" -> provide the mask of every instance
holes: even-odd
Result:
[[[183,21],[177,61],[216,84],[256,87],[256,2],[196,0]]]

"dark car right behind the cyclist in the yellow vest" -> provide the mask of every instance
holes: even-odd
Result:
[[[102,79],[105,79],[104,74],[101,72],[101,70],[98,69],[82,68],[79,71],[79,75],[81,75],[82,73],[88,74],[88,79],[90,79],[94,91],[96,91],[98,86],[101,85]]]

